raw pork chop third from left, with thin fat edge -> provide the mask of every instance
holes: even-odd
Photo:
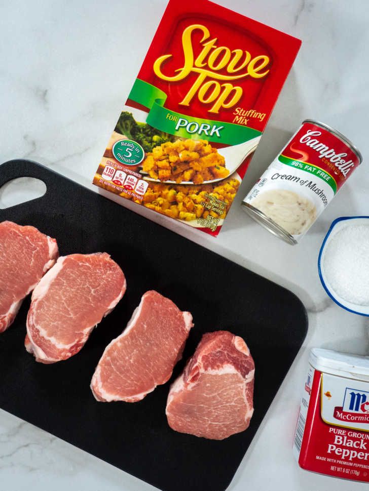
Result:
[[[146,292],[124,332],[105,348],[91,381],[95,398],[136,402],[165,384],[193,325],[190,312]]]

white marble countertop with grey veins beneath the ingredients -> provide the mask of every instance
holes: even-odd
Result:
[[[339,216],[368,213],[367,163],[356,171],[304,240],[273,237],[239,206],[253,181],[311,117],[369,152],[369,10],[365,0],[219,0],[303,40],[248,174],[218,238],[179,233],[296,293],[309,313],[309,333],[230,486],[232,491],[335,491],[367,486],[303,471],[291,445],[312,346],[367,354],[368,321],[324,293],[317,274],[322,238]],[[27,157],[90,184],[166,0],[29,2],[2,5],[0,19],[1,160]],[[19,185],[18,185],[19,186]],[[19,191],[7,186],[6,194]],[[27,186],[29,191],[29,185]],[[1,204],[1,203],[0,203]],[[157,221],[163,218],[158,216]],[[174,228],[175,224],[166,221]],[[154,489],[44,431],[0,411],[2,489]],[[206,491],[206,490],[204,490]]]

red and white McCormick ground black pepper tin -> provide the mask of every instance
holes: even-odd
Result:
[[[293,442],[303,469],[369,482],[369,358],[312,349]]]

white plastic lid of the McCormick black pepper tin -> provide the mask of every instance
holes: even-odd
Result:
[[[320,372],[369,382],[369,357],[313,348],[309,363]]]

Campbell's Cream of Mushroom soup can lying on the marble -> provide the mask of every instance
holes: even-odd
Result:
[[[296,244],[361,161],[341,133],[306,119],[243,199],[244,211]]]

